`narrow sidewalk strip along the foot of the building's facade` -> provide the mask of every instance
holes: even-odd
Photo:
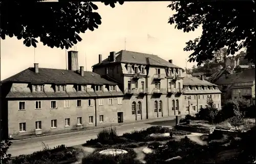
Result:
[[[75,133],[81,132],[81,131],[102,129],[102,128],[108,128],[111,126],[122,126],[122,125],[137,124],[137,123],[146,124],[146,123],[152,123],[152,122],[156,122],[156,121],[168,121],[168,120],[174,120],[174,119],[175,119],[175,116],[167,116],[167,117],[163,117],[161,119],[154,118],[154,119],[140,120],[140,121],[136,121],[136,122],[115,123],[115,124],[109,124],[109,125],[104,125],[104,126],[88,127],[86,129],[77,129],[77,130],[60,130],[60,131],[55,131],[55,132],[50,132],[50,133],[45,133],[45,134],[40,134],[40,135],[35,135],[35,134],[17,135],[17,136],[13,136],[12,140],[20,140],[20,139],[35,138],[35,137],[42,137],[42,136],[49,136],[49,135],[57,135],[57,134],[63,134],[63,133],[75,134]]]

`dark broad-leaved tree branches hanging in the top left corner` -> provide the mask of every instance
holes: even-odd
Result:
[[[98,7],[92,2],[42,1],[0,1],[1,38],[15,36],[23,39],[26,46],[36,48],[39,37],[40,42],[51,48],[68,49],[82,40],[80,32],[94,31],[101,25],[101,16],[96,12]],[[102,3],[114,8],[117,1]]]

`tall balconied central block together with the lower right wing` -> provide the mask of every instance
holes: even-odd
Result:
[[[188,101],[185,98],[191,95],[199,97],[191,99],[193,113],[200,106],[204,107],[207,96],[211,95],[218,95],[214,96],[214,101],[217,107],[218,104],[221,107],[221,92],[217,85],[192,77],[186,77],[184,81],[182,69],[174,65],[173,60],[167,62],[157,55],[125,50],[111,52],[104,60],[99,55],[93,72],[119,83],[119,88],[124,91],[125,107],[132,107],[134,120],[186,115],[190,106],[186,105]],[[139,115],[136,112],[138,102],[142,105]]]

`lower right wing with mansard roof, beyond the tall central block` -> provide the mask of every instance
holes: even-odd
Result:
[[[189,115],[195,115],[201,108],[207,107],[207,100],[211,98],[216,108],[221,108],[221,91],[218,85],[202,80],[185,76],[183,79],[183,109]]]

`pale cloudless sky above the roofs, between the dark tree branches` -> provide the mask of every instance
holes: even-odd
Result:
[[[105,59],[110,52],[124,49],[158,55],[167,61],[173,59],[175,65],[184,68],[192,53],[183,51],[185,42],[202,34],[201,28],[184,33],[175,29],[175,25],[169,25],[168,18],[175,14],[167,8],[170,2],[124,2],[115,8],[100,2],[95,4],[102,24],[94,31],[80,33],[83,40],[76,44],[79,66],[84,66],[87,71],[92,71],[92,65],[98,62],[98,54]],[[71,50],[75,48],[67,51]],[[65,49],[52,49],[42,43],[34,49],[16,37],[1,39],[1,80],[33,67],[34,62],[39,67],[66,69],[65,54]],[[187,62],[187,67],[196,64]]]

